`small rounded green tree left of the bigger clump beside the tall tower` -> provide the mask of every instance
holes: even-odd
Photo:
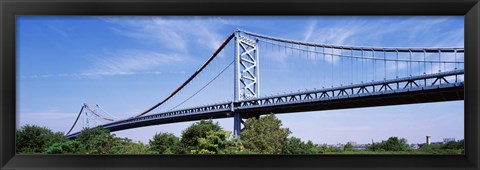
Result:
[[[181,153],[180,139],[171,133],[156,133],[149,145],[152,151],[161,154]]]

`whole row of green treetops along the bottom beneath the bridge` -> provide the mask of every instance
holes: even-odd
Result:
[[[17,130],[17,153],[45,154],[463,154],[465,142],[422,145],[410,148],[407,140],[390,137],[354,150],[351,143],[343,148],[326,144],[316,145],[288,137],[288,128],[274,114],[249,118],[244,123],[241,139],[233,138],[218,122],[202,120],[182,131],[181,137],[172,133],[156,133],[148,144],[128,138],[115,137],[103,127],[86,128],[74,140],[61,132],[45,127],[25,125]]]

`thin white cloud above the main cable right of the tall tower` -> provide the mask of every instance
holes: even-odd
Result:
[[[385,17],[377,22],[353,17],[323,25],[321,20],[310,21],[303,32],[304,41],[320,44],[376,47],[463,47],[463,29],[439,30],[452,17],[411,17],[399,19]],[[421,37],[421,38],[419,38]],[[398,41],[398,39],[402,41]],[[392,41],[394,39],[395,41]],[[327,53],[330,53],[327,49]],[[327,62],[337,63],[339,57],[327,57]],[[398,69],[406,69],[405,64]],[[389,68],[396,69],[396,68]]]

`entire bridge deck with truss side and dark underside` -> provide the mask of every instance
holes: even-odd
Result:
[[[130,118],[102,125],[111,132],[151,125],[202,119],[242,118],[263,114],[294,113],[372,106],[453,101],[464,99],[464,70],[424,74],[392,80],[360,83],[348,86],[317,89],[239,102],[176,110]],[[68,138],[75,138],[79,132]]]

